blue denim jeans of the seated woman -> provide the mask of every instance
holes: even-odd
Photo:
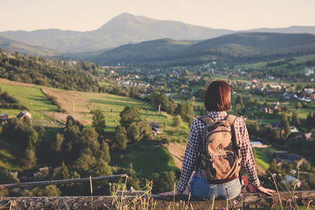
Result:
[[[207,200],[214,197],[229,200],[241,194],[241,182],[235,179],[223,184],[211,184],[204,177],[194,176],[190,179],[190,191],[194,196]]]

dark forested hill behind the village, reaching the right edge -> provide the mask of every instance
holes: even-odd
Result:
[[[123,45],[91,59],[100,64],[197,64],[220,59],[257,62],[314,53],[313,34],[236,33],[199,43],[163,39]]]

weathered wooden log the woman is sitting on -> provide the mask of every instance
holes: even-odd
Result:
[[[296,202],[299,207],[307,207],[315,209],[315,190],[297,191],[294,193],[297,196]],[[293,200],[293,195],[290,193],[280,193],[283,209],[288,209],[288,200]],[[118,197],[121,200],[121,197]],[[125,202],[134,200],[134,197],[125,197]],[[179,195],[175,197],[160,197],[153,196],[153,201],[156,201],[155,209],[180,209],[183,202],[188,204],[188,196]],[[228,205],[231,209],[231,202]],[[92,203],[93,202],[93,203]],[[112,204],[113,197],[111,196],[96,196],[96,197],[1,197],[0,209],[118,209],[115,204]],[[200,200],[195,197],[190,197],[189,209],[211,209],[211,200]],[[177,207],[179,206],[179,207]],[[214,209],[226,207],[225,200],[215,200]],[[134,204],[130,203],[130,209]],[[262,207],[280,207],[279,196],[274,193],[269,196],[262,193],[244,193],[238,198],[238,203],[235,208],[251,209]],[[141,208],[139,208],[141,209]],[[149,208],[150,209],[150,208]]]

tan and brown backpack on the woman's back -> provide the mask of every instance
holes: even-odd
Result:
[[[234,125],[237,117],[228,115],[216,122],[209,116],[199,119],[205,124],[199,158],[204,178],[213,184],[237,179],[241,169],[240,144]]]

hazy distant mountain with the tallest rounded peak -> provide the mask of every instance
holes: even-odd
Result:
[[[127,43],[139,43],[160,38],[203,40],[235,31],[209,29],[176,21],[161,21],[123,13],[94,31],[4,31],[1,34],[63,52],[87,52],[116,48]]]

